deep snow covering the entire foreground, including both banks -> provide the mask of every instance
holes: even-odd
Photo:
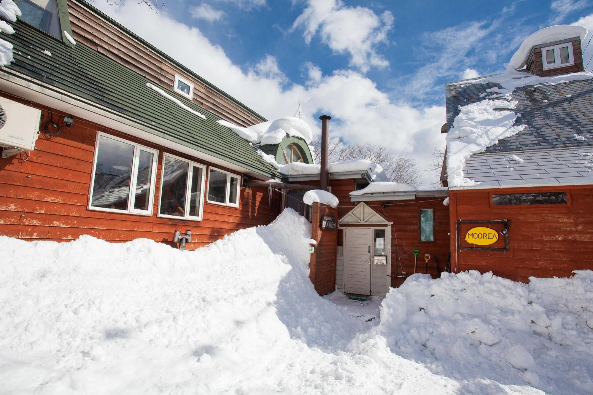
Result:
[[[415,275],[367,321],[377,298],[315,293],[309,227],[286,210],[184,252],[149,240],[0,237],[0,393],[593,388],[593,273],[530,285]]]

